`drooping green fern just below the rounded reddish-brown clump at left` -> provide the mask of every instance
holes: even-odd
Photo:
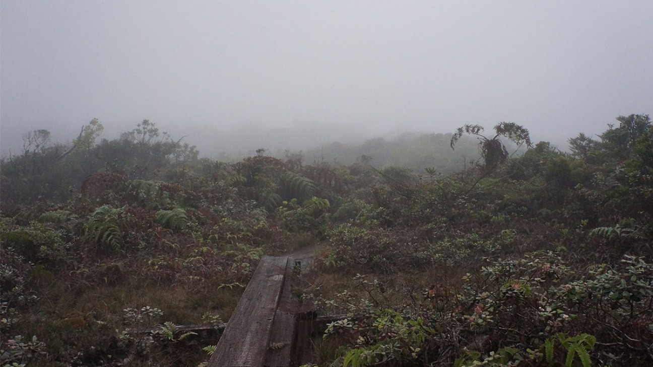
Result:
[[[103,205],[96,208],[85,225],[84,236],[99,246],[108,246],[114,251],[123,247],[123,237],[118,226],[118,216],[122,209]]]

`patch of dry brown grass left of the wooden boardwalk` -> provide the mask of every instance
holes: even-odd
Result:
[[[71,285],[66,279],[52,278],[48,273],[40,274],[33,284],[40,300],[26,310],[30,317],[22,330],[29,338],[39,336],[39,340],[48,345],[49,359],[54,361],[72,360],[76,351],[83,351],[84,355],[97,353],[99,359],[103,358],[102,354],[115,357],[125,353],[117,345],[116,330],[121,332],[127,327],[148,327],[164,321],[195,325],[203,322],[202,315],[207,312],[227,321],[243,291],[242,287],[204,287],[200,291],[200,287],[163,285],[138,279],[112,285]],[[125,308],[140,310],[144,306],[161,309],[163,316],[151,323],[125,323]],[[194,346],[187,349],[189,360],[202,360],[204,346],[194,342]],[[184,365],[174,362],[165,353],[148,358],[163,366]]]

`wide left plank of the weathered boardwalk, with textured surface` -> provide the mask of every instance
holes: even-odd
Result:
[[[287,263],[287,257],[261,258],[217,343],[210,367],[263,366]]]

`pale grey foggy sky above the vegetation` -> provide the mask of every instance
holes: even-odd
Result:
[[[652,14],[651,0],[3,0],[0,150],[93,118],[105,138],[149,119],[205,153],[238,146],[230,129],[302,127],[289,142],[311,145],[499,121],[564,145],[653,114]]]

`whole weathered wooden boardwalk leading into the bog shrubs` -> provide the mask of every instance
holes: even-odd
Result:
[[[291,257],[261,259],[217,343],[210,367],[285,367],[306,361],[311,332],[307,325],[314,313],[291,293],[295,265]]]

